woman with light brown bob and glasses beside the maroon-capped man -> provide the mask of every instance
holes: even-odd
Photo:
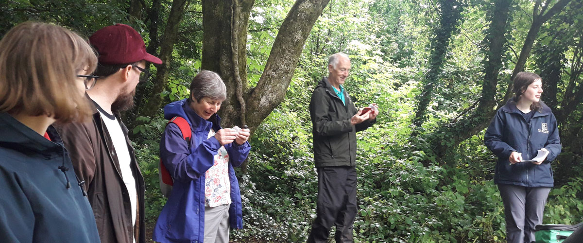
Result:
[[[99,242],[93,211],[51,124],[83,121],[92,48],[63,27],[26,22],[0,41],[0,239]]]

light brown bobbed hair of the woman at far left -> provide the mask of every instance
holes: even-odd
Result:
[[[92,109],[76,75],[96,66],[93,49],[73,31],[21,23],[0,41],[0,112],[85,121]]]

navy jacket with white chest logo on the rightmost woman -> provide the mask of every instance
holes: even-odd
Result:
[[[495,184],[519,186],[553,186],[550,161],[561,152],[557,120],[550,108],[543,104],[530,121],[527,121],[513,100],[500,108],[484,135],[484,143],[496,156]],[[541,148],[549,150],[542,164],[530,162],[510,164],[508,157],[513,151],[522,153],[522,160],[536,157]]]

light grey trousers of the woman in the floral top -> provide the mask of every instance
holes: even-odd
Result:
[[[205,207],[205,243],[229,243],[229,206]]]

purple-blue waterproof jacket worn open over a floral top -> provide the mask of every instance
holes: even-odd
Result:
[[[191,126],[190,145],[182,137],[178,125],[166,126],[160,141],[160,158],[174,178],[174,186],[166,205],[162,209],[154,228],[153,240],[166,242],[203,242],[205,227],[205,172],[215,162],[220,143],[210,137],[210,129],[219,131],[220,118],[213,115],[209,121],[201,118],[188,106],[186,99],[175,101],[164,107],[164,118],[182,117]],[[229,179],[231,182],[231,205],[229,221],[231,228],[243,228],[241,193],[234,167],[245,161],[251,146],[248,142],[224,145],[229,153]]]

